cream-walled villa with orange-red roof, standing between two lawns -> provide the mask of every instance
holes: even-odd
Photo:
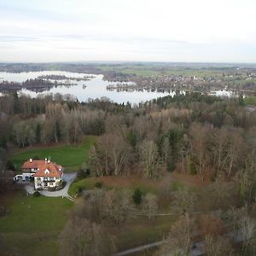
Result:
[[[34,177],[35,189],[57,189],[61,186],[62,167],[50,160],[27,160],[22,165],[22,179]]]

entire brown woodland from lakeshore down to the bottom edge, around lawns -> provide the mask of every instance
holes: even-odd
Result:
[[[175,218],[160,247],[147,255],[189,255],[201,242],[206,255],[253,255],[256,112],[246,107],[242,96],[196,92],[134,107],[107,98],[76,102],[9,93],[0,97],[0,165],[18,171],[8,158],[12,148],[76,145],[96,136],[77,182],[97,182],[90,191],[74,191],[78,201],[60,235],[61,255],[116,253],[119,227],[141,215],[157,222],[163,212]],[[157,192],[107,188],[104,177],[160,186]],[[173,177],[195,184],[173,188]]]

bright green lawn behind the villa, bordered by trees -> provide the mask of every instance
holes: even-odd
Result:
[[[19,149],[9,157],[16,169],[25,160],[37,155],[40,159],[50,157],[57,164],[64,166],[66,172],[78,171],[84,161],[88,157],[88,152],[92,143],[96,141],[96,137],[85,137],[84,142],[79,145],[56,145],[50,147],[32,147]]]

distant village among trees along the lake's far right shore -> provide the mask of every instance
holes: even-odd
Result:
[[[212,90],[231,90],[234,92],[254,92],[256,71],[237,70],[236,73],[216,73],[215,75],[188,76],[183,74],[156,74],[149,77],[123,73],[108,73],[104,79],[118,84],[108,85],[108,90],[148,90],[167,91],[190,90],[211,92]],[[124,83],[126,82],[126,83]]]

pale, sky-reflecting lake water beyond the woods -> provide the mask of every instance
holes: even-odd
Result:
[[[84,76],[89,76],[89,74],[85,73],[69,73],[62,71],[44,71],[44,72],[29,72],[29,73],[0,73],[0,81],[15,81],[15,82],[24,82],[26,79],[36,79],[41,75],[65,75],[70,78],[84,78]],[[107,86],[120,84],[113,83],[102,80],[102,75],[93,75],[95,78],[90,81],[76,81],[70,80],[71,83],[77,85],[59,85],[57,87],[53,87],[50,90],[46,90],[43,93],[61,93],[62,95],[70,94],[79,100],[79,102],[86,102],[89,98],[96,99],[101,97],[108,97],[113,102],[123,103],[123,102],[131,102],[131,103],[139,103],[146,102],[148,100],[160,97],[160,96],[168,96],[175,95],[175,92],[157,92],[157,91],[117,91],[117,90],[107,90]],[[61,82],[61,81],[60,81]],[[86,85],[83,86],[83,85]],[[19,92],[30,95],[32,97],[38,96],[38,94],[42,94],[42,92],[35,92],[32,90],[20,90]]]

